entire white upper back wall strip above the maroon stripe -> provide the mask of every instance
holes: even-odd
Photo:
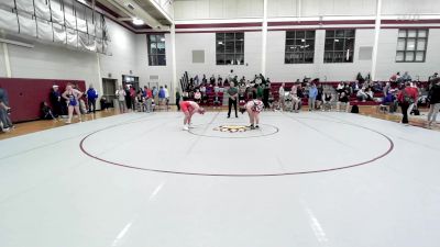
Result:
[[[262,18],[263,0],[185,0],[175,1],[175,19],[219,20]],[[383,0],[382,13],[438,14],[438,0]],[[376,0],[268,0],[268,18],[366,16],[374,15]]]

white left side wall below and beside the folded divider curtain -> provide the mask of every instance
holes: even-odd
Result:
[[[133,75],[138,70],[136,35],[125,27],[107,19],[111,42],[111,55],[80,52],[65,46],[29,41],[33,48],[8,45],[12,78],[45,78],[84,80],[94,83],[98,92],[102,92],[99,78],[99,66],[102,78],[111,77],[121,83],[122,75]],[[6,77],[3,48],[0,45],[0,77]]]

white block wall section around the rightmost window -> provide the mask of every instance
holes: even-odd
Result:
[[[427,80],[440,70],[440,30],[429,30],[426,63],[396,63],[398,30],[381,30],[377,53],[377,79],[387,80],[393,72],[408,71],[413,79]]]

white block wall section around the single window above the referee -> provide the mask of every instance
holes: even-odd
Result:
[[[244,64],[245,65],[217,65],[216,64],[216,34],[215,33],[178,33],[176,34],[176,61],[177,76],[180,78],[185,71],[190,77],[199,75],[201,79],[206,74],[226,78],[231,69],[238,76],[253,78],[261,71],[262,63],[262,33],[244,33]],[[205,50],[205,64],[193,64],[193,50]]]

